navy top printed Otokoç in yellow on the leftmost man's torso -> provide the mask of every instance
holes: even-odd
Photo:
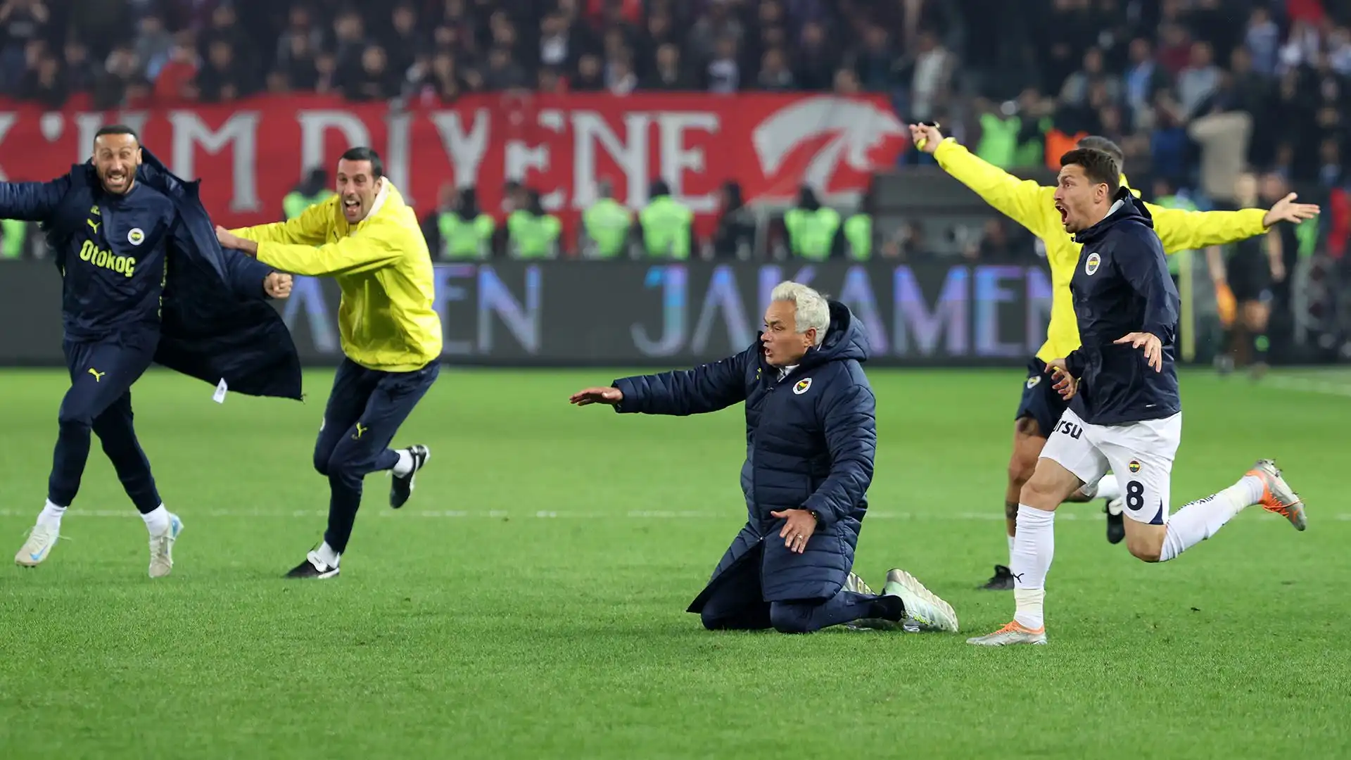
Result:
[[[100,199],[65,252],[66,334],[99,339],[122,330],[158,330],[173,204],[139,183],[126,197]]]

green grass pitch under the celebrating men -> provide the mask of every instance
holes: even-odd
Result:
[[[708,633],[685,606],[744,519],[740,407],[573,408],[613,371],[447,368],[396,445],[432,458],[366,500],[343,575],[286,581],[320,536],[309,400],[212,403],[155,372],[136,425],[185,522],[173,575],[95,445],[62,540],[0,571],[0,757],[1346,757],[1351,377],[1183,373],[1174,510],[1273,456],[1309,504],[1177,561],[1066,504],[1050,646],[977,650],[1011,592],[1004,471],[1017,371],[874,371],[880,448],[855,569],[902,567],[962,633]],[[0,550],[42,506],[57,372],[0,373]],[[5,554],[8,557],[8,554]],[[8,560],[7,560],[8,561]],[[836,755],[839,753],[839,755]]]

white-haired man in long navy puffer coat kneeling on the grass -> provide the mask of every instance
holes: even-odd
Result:
[[[770,302],[765,331],[742,353],[624,377],[571,403],[684,417],[746,402],[746,526],[689,606],[705,627],[955,632],[952,607],[908,572],[888,572],[881,595],[851,572],[877,448],[863,326],[798,283],[781,283]]]

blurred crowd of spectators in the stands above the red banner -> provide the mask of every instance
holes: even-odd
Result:
[[[1147,197],[1200,208],[1232,204],[1244,170],[1333,207],[1351,181],[1346,1],[0,0],[0,95],[49,108],[512,89],[881,92],[1011,170],[1054,170],[1077,137],[1106,135]],[[847,254],[858,210],[840,211]],[[1339,258],[1346,218],[1323,222]],[[966,247],[1025,243],[992,222]]]

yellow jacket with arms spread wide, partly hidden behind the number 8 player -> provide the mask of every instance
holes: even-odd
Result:
[[[985,203],[1027,227],[1046,243],[1046,260],[1051,265],[1051,323],[1036,357],[1042,361],[1065,358],[1079,348],[1070,279],[1074,277],[1082,246],[1061,226],[1061,214],[1055,210],[1055,188],[1039,185],[1034,180],[1020,180],[971,154],[952,138],[944,138],[934,157],[939,166],[975,191]],[[1121,183],[1125,184],[1125,176]],[[1140,195],[1135,189],[1131,192]],[[1154,216],[1154,233],[1159,235],[1166,253],[1227,245],[1266,233],[1262,226],[1266,211],[1262,208],[1183,211],[1152,203],[1144,206],[1150,216]]]

